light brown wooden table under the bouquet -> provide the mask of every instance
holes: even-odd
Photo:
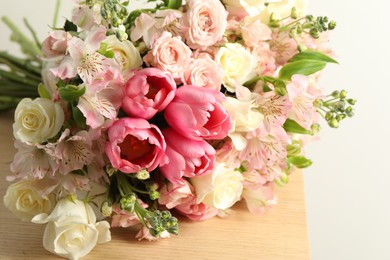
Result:
[[[0,196],[13,159],[11,112],[0,113]],[[134,239],[135,229],[114,229],[112,241],[83,259],[309,259],[303,177],[277,191],[279,204],[265,215],[244,203],[234,214],[203,222],[181,219],[180,234],[157,242]],[[21,222],[0,203],[0,259],[60,259],[42,246],[44,225]]]

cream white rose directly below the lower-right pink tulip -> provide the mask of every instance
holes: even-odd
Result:
[[[197,203],[225,210],[240,200],[243,190],[242,174],[219,163],[210,174],[191,178]]]

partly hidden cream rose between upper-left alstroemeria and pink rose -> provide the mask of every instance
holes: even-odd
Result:
[[[114,52],[122,71],[139,69],[142,66],[141,55],[130,41],[120,41],[115,35],[110,35],[104,42],[108,45],[107,50]]]

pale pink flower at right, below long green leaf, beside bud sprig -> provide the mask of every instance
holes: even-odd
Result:
[[[310,85],[306,76],[294,75],[291,80],[291,83],[287,85],[288,97],[292,102],[289,118],[310,130],[318,117],[314,101],[321,93]]]

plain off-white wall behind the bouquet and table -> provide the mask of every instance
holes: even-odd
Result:
[[[0,16],[17,24],[28,17],[39,38],[50,31],[54,0],[0,3]],[[71,0],[63,0],[60,16],[69,17],[71,7]],[[386,0],[310,4],[310,13],[338,23],[331,43],[340,65],[326,69],[321,85],[329,92],[346,88],[358,99],[353,120],[338,130],[324,124],[321,140],[307,149],[314,160],[304,171],[313,260],[390,259],[389,10]],[[1,50],[18,51],[2,23],[0,35]]]

